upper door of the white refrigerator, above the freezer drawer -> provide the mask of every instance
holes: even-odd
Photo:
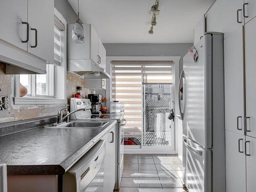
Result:
[[[197,62],[193,55],[187,53],[183,58],[183,135],[205,146],[205,101],[206,101],[206,54],[210,57],[211,45],[210,36],[205,35],[195,46],[198,52]],[[211,65],[211,63],[208,63]],[[209,132],[211,133],[211,132]],[[208,137],[209,139],[211,136]]]

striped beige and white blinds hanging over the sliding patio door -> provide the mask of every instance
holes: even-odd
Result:
[[[124,103],[127,127],[142,126],[142,84],[172,83],[173,61],[112,61],[112,100]]]

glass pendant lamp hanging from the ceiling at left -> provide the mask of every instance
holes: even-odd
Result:
[[[82,27],[82,22],[79,18],[79,0],[77,0],[78,4],[78,19],[76,20],[76,23],[73,25],[72,29],[72,40],[75,44],[83,44],[84,43],[84,30]]]

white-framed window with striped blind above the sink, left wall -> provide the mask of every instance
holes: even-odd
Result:
[[[66,103],[67,22],[54,9],[54,63],[46,66],[47,74],[17,75],[15,104]]]

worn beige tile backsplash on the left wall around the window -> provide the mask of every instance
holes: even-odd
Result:
[[[63,105],[15,105],[13,103],[14,97],[14,79],[15,75],[5,74],[5,64],[0,62],[0,95],[8,95],[9,109],[0,111],[0,123],[16,120],[31,119],[37,117],[56,115],[57,112],[63,108]],[[84,87],[84,79],[67,72],[67,99],[68,102],[76,93],[76,87]],[[83,88],[83,96],[89,93],[89,90]]]

